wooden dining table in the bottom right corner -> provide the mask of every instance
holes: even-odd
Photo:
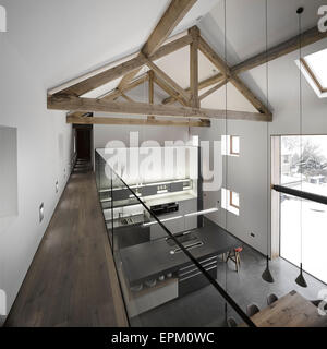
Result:
[[[319,315],[317,308],[296,291],[280,298],[251,320],[257,327],[327,327],[327,315]]]

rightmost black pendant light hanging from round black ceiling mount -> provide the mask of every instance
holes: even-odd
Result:
[[[296,13],[299,15],[299,64],[300,64],[300,153],[301,157],[303,156],[303,149],[302,149],[302,117],[303,117],[303,110],[302,110],[302,24],[301,24],[301,15],[304,11],[304,8],[299,8],[296,10]],[[302,191],[302,167],[301,168],[301,191]],[[300,230],[301,230],[301,263],[300,263],[300,275],[296,277],[295,282],[301,287],[307,287],[307,284],[303,276],[303,268],[302,268],[302,200],[300,202]]]

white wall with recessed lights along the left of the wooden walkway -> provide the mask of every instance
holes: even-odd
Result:
[[[9,26],[8,33],[0,33],[0,125],[17,129],[17,214],[0,218],[0,302],[3,310],[5,293],[8,313],[68,180],[72,128],[65,123],[63,112],[47,110],[46,75],[34,65],[47,46],[40,49],[37,41],[24,37],[25,27],[19,23],[27,12],[21,12],[22,2],[1,4],[7,8]],[[37,22],[28,25],[29,31],[37,31]],[[29,40],[31,46],[25,46]],[[45,219],[39,224],[43,202]],[[4,321],[1,315],[0,325]]]

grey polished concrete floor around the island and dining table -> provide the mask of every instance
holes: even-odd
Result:
[[[301,288],[295,284],[299,269],[289,262],[278,258],[270,263],[270,270],[275,278],[274,284],[267,284],[262,279],[262,273],[266,266],[265,257],[253,249],[245,246],[241,254],[241,269],[234,272],[234,264],[229,262],[218,263],[218,282],[225,287],[234,301],[243,309],[255,303],[261,309],[267,306],[266,297],[274,292],[282,297],[291,290],[296,290],[303,297],[317,299],[322,289],[327,286],[307,274],[305,279],[308,287]],[[238,323],[240,317],[228,306],[228,316],[233,316]],[[213,286],[207,286],[199,291],[173,300],[149,312],[131,320],[132,326],[225,326],[225,301]]]

